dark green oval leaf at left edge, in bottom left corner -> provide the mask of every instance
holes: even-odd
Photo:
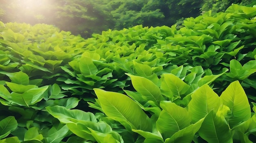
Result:
[[[7,137],[18,127],[18,123],[13,116],[8,116],[0,121],[0,139]]]

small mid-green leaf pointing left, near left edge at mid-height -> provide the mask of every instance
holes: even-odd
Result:
[[[29,84],[29,76],[24,72],[16,72],[16,73],[8,73],[6,74],[11,79],[11,82],[19,84],[19,85],[28,85]]]

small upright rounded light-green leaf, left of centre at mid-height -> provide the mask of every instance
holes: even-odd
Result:
[[[84,76],[94,75],[98,72],[98,69],[92,62],[92,59],[88,57],[81,57],[79,68],[81,74],[83,74]]]

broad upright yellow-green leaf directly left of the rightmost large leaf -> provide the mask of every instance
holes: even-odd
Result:
[[[193,123],[204,118],[213,109],[218,111],[220,106],[219,96],[208,85],[197,89],[191,98],[188,106]]]

